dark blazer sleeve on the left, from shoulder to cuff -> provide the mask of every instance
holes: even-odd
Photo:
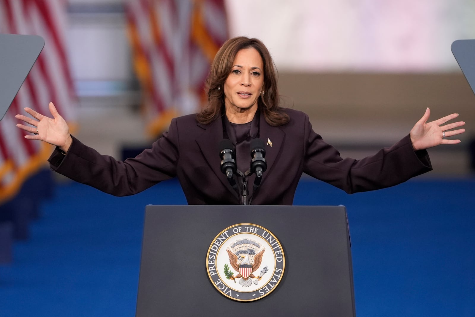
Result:
[[[73,137],[66,154],[56,148],[48,159],[50,168],[80,183],[115,196],[127,196],[145,190],[176,175],[178,152],[176,119],[168,132],[135,158],[123,162],[101,155]]]

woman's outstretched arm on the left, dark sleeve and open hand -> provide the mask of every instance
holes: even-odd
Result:
[[[30,108],[25,108],[25,111],[33,118],[17,115],[16,118],[25,122],[25,125],[18,124],[17,127],[33,133],[25,138],[45,141],[67,152],[67,155],[63,155],[55,149],[48,161],[53,171],[74,181],[115,196],[125,196],[176,176],[179,155],[175,120],[171,123],[172,132],[164,133],[152,144],[152,149],[120,162],[111,156],[99,154],[72,137],[66,121],[57,113],[53,103],[49,103],[53,118]]]

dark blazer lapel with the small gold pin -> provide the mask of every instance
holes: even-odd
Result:
[[[261,113],[259,121],[259,138],[264,141],[266,144],[266,162],[267,170],[262,175],[262,182],[266,181],[266,175],[272,172],[274,163],[277,156],[281,151],[282,144],[284,143],[285,133],[279,127],[269,126],[264,118],[264,115]]]

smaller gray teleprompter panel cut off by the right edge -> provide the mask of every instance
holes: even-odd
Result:
[[[450,48],[468,84],[475,93],[475,40],[456,40]]]

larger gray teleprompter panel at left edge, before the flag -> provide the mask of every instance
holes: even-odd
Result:
[[[0,120],[45,46],[41,36],[0,34]]]

